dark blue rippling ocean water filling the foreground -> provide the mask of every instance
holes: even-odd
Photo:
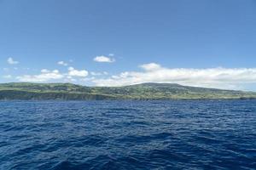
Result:
[[[0,102],[0,169],[255,169],[256,100]]]

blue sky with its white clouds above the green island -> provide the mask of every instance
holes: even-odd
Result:
[[[256,91],[256,1],[0,0],[0,82]]]

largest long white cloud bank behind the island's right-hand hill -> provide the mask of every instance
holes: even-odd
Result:
[[[143,71],[125,71],[93,80],[97,86],[124,86],[143,82],[170,82],[207,88],[241,88],[256,83],[256,68],[169,69],[155,63],[140,65]]]

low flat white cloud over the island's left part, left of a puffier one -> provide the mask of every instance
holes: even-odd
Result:
[[[43,69],[39,75],[24,75],[21,77],[16,77],[20,82],[50,82],[50,81],[59,81],[64,76],[58,71],[49,71]]]

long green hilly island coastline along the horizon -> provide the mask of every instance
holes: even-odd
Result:
[[[151,82],[123,87],[86,87],[72,83],[0,83],[0,100],[90,99],[256,99],[256,93]]]

